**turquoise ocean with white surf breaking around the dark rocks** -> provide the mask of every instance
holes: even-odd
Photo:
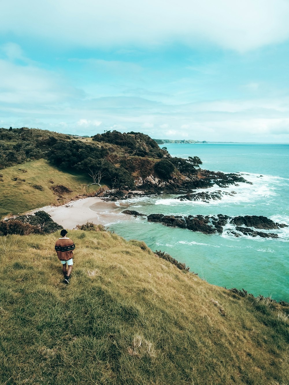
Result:
[[[210,203],[179,201],[161,195],[116,202],[114,210],[165,215],[263,215],[289,224],[289,144],[166,144],[171,156],[198,156],[201,167],[212,171],[239,172],[253,184],[240,183],[224,191],[235,191]],[[161,146],[163,147],[163,146]],[[205,190],[220,190],[211,187]],[[91,208],[92,209],[92,208]],[[187,229],[150,223],[123,214],[123,220],[109,225],[125,239],[143,240],[152,250],[171,254],[190,271],[213,285],[238,288],[255,296],[271,296],[289,302],[289,228],[277,231],[279,239],[236,238],[229,232],[206,235]],[[230,226],[230,225],[229,225]],[[228,227],[229,227],[228,226]]]

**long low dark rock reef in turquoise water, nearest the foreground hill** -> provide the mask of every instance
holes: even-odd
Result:
[[[138,213],[137,211],[124,210],[123,213],[144,216],[144,214]],[[287,224],[275,223],[272,219],[255,215],[232,218],[223,214],[218,214],[217,216],[150,214],[147,218],[149,222],[162,223],[165,226],[179,227],[181,229],[188,229],[191,231],[200,231],[203,234],[222,234],[224,226],[227,224],[234,224],[235,228],[228,228],[227,231],[237,237],[244,234],[252,237],[260,236],[262,238],[278,238],[278,234],[276,233],[257,231],[256,229],[271,230],[288,227]],[[246,227],[240,226],[240,224],[245,224]]]

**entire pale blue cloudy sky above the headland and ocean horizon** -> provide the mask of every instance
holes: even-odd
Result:
[[[0,126],[289,142],[287,0],[10,0]]]

